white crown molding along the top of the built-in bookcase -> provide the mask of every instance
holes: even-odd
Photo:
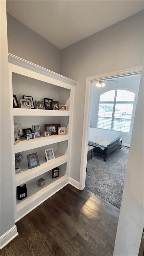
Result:
[[[68,83],[70,85],[76,85],[77,84],[77,82],[75,80],[72,80],[72,79],[70,79],[68,77],[65,77],[63,75],[57,74],[56,72],[53,72],[53,71],[51,71],[49,69],[41,67],[41,66],[39,66],[37,64],[34,64],[34,63],[32,63],[32,62],[30,62],[28,60],[22,59],[22,58],[20,58],[20,57],[18,57],[16,55],[11,54],[11,53],[8,53],[8,61],[9,61],[9,63],[12,63],[14,65],[17,65],[17,66],[29,69],[31,71],[43,74],[45,76],[49,76],[51,78],[60,80],[62,82]]]

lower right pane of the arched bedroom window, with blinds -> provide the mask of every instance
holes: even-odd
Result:
[[[133,104],[116,104],[113,130],[129,133]]]

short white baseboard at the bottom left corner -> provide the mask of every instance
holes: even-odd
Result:
[[[0,237],[0,249],[6,246],[12,239],[18,235],[17,227],[14,225],[10,230]]]

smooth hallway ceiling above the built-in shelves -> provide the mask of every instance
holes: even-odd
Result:
[[[9,0],[7,12],[63,49],[144,9],[144,1]]]

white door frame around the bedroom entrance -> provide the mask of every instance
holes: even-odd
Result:
[[[82,136],[81,164],[80,164],[80,183],[79,183],[80,190],[83,190],[85,188],[85,179],[86,179],[92,81],[104,80],[104,79],[108,79],[108,78],[117,78],[117,77],[121,77],[121,76],[132,75],[132,74],[139,74],[141,72],[142,72],[142,66],[139,66],[139,67],[134,67],[134,68],[130,68],[130,69],[124,69],[124,70],[114,71],[114,72],[110,72],[110,73],[89,76],[86,78],[83,136]]]

